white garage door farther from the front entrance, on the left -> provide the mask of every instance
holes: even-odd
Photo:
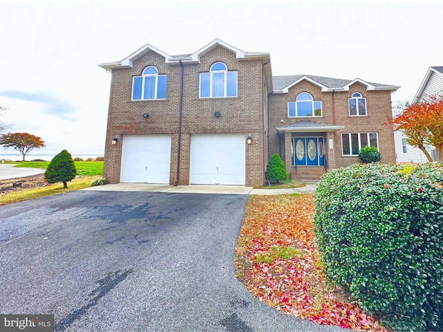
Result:
[[[123,136],[120,182],[169,183],[170,135]]]

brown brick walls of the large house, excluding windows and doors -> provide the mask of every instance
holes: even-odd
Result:
[[[208,72],[215,62],[226,64],[228,71],[237,71],[237,97],[199,98],[199,73]],[[196,133],[237,133],[244,135],[245,141],[251,136],[252,144],[245,144],[248,186],[264,184],[266,163],[271,154],[280,154],[291,173],[291,137],[305,133],[278,133],[277,128],[300,121],[288,118],[287,102],[296,100],[302,91],[323,102],[323,116],[312,118],[313,121],[344,126],[343,130],[316,133],[325,138],[325,146],[333,140],[334,148],[326,151],[328,169],[359,162],[358,157],[342,156],[342,132],[377,132],[382,161],[395,163],[392,129],[383,126],[390,116],[389,90],[369,91],[367,86],[356,82],[348,91],[322,92],[320,86],[302,80],[288,93],[272,93],[269,54],[242,53],[217,39],[194,55],[168,57],[155,48],[146,47],[123,62],[100,66],[111,70],[112,75],[104,169],[110,183],[120,181],[120,142],[123,136],[131,134],[171,136],[171,185],[190,183],[190,142]],[[159,74],[167,75],[164,100],[132,100],[132,77],[141,75],[147,66],[155,66]],[[349,116],[347,100],[354,92],[366,98],[368,116]],[[216,117],[215,111],[220,116]],[[143,118],[143,113],[149,113],[149,118]],[[111,145],[113,138],[118,138],[116,145]]]

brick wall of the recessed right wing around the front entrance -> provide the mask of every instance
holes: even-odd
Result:
[[[311,118],[289,118],[289,101],[294,101],[301,92],[310,93],[314,100],[322,101],[322,116]],[[348,100],[352,93],[361,93],[366,98],[367,116],[350,116]],[[280,154],[285,161],[289,172],[291,165],[292,147],[291,137],[321,136],[325,139],[325,154],[327,156],[327,169],[346,167],[354,163],[360,163],[358,156],[343,156],[341,133],[377,133],[379,151],[382,163],[395,163],[394,133],[386,125],[392,115],[390,90],[368,91],[363,84],[356,82],[349,87],[348,91],[322,92],[320,86],[307,80],[292,86],[288,93],[274,93],[269,98],[269,146],[270,154]],[[283,120],[283,122],[282,122]],[[336,124],[343,126],[337,131],[309,131],[278,133],[276,128],[287,124],[311,120],[318,124]],[[332,140],[332,149],[329,148],[329,140]],[[295,174],[294,172],[289,172]]]

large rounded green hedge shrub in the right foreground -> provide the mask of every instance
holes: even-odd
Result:
[[[443,163],[356,164],[316,188],[327,277],[400,331],[443,330]]]

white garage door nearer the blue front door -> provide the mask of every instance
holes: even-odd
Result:
[[[244,135],[192,135],[190,184],[244,185]]]

